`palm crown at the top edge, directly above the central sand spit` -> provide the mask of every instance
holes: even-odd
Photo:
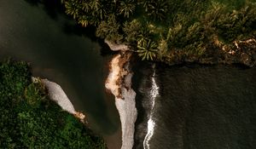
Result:
[[[119,14],[124,14],[126,18],[129,18],[135,10],[136,4],[133,0],[125,0],[120,3]]]

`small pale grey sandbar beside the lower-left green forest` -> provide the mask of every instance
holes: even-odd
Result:
[[[54,100],[64,111],[73,114],[75,117],[78,117],[82,122],[84,122],[84,114],[75,111],[73,104],[68,99],[67,95],[65,94],[64,90],[61,89],[59,84],[50,82],[48,79],[40,79],[36,77],[32,77],[32,81],[34,83],[43,83],[45,88],[48,90],[50,100]]]

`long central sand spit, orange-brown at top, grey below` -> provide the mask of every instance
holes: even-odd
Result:
[[[137,119],[136,93],[131,89],[133,73],[129,68],[130,53],[117,54],[111,60],[110,72],[106,81],[106,88],[115,96],[115,105],[119,111],[122,125],[122,147],[131,149],[134,143],[134,129]]]

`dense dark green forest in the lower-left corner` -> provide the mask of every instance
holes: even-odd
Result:
[[[79,119],[32,83],[25,62],[0,63],[0,148],[106,148]]]

